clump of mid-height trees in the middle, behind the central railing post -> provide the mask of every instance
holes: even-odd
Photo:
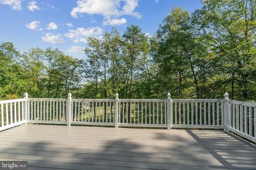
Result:
[[[87,40],[85,53],[90,84],[85,86],[93,84],[90,98],[114,98],[116,92],[120,98],[134,97],[134,77],[140,76],[147,63],[149,44],[145,34],[132,25],[127,27],[123,37],[113,28],[101,40],[92,37]]]

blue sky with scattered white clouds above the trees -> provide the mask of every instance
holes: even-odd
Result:
[[[153,36],[172,7],[191,14],[200,0],[0,0],[0,43],[21,53],[58,48],[82,59],[87,37],[102,38],[114,26],[120,35],[130,25]]]

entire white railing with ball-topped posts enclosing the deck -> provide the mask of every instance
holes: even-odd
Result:
[[[256,143],[256,104],[224,99],[66,99],[0,101],[0,131],[26,123],[224,129]],[[116,121],[117,120],[117,121]]]

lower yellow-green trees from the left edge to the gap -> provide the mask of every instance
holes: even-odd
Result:
[[[12,43],[0,45],[0,98],[66,98],[82,87],[84,62],[58,49],[37,47],[20,55]],[[47,63],[47,64],[46,64]],[[77,93],[73,94],[76,97]]]

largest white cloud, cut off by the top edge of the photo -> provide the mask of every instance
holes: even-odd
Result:
[[[73,18],[78,18],[78,15],[84,13],[88,15],[98,14],[106,20],[104,21],[105,25],[126,23],[124,22],[125,18],[119,19],[123,15],[142,18],[139,12],[134,12],[138,6],[138,0],[78,0],[76,4],[77,6],[70,12]]]

